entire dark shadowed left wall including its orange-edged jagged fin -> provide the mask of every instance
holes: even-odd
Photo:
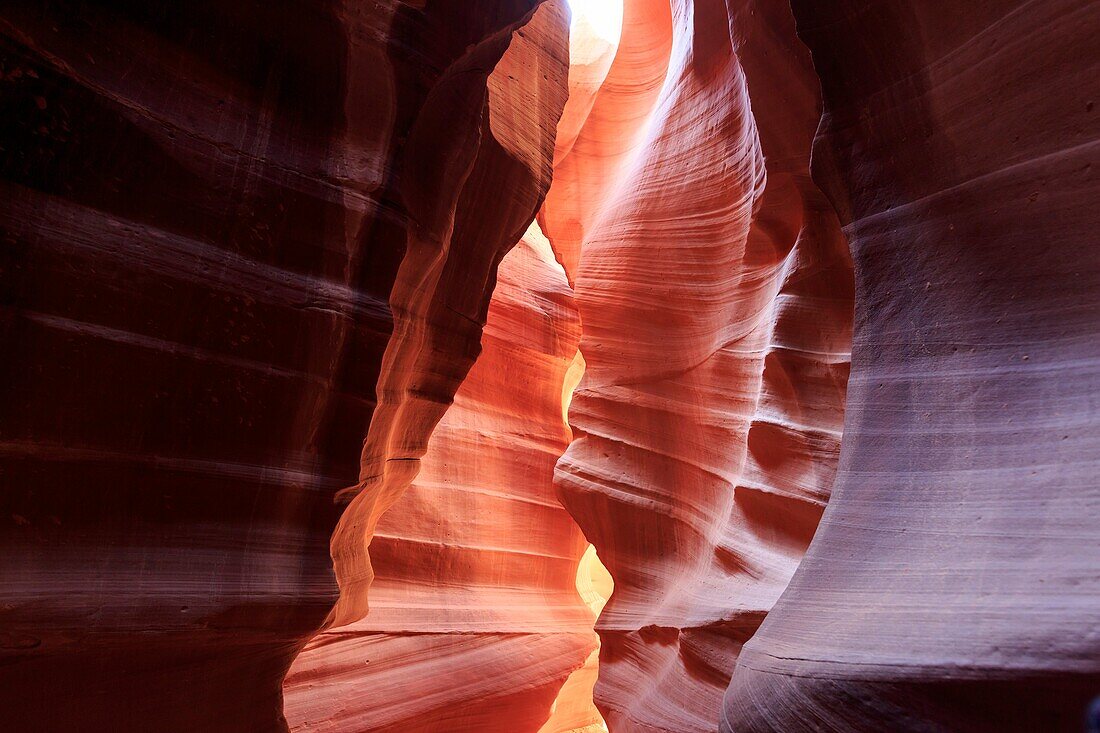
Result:
[[[9,725],[284,726],[549,186],[534,6],[0,11]]]

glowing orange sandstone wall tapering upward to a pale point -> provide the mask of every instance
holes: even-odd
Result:
[[[596,646],[576,589],[587,543],[553,490],[580,337],[564,272],[532,227],[501,263],[481,355],[419,475],[378,524],[370,615],[329,628],[292,667],[292,730],[535,733],[548,721]],[[544,733],[598,721],[591,681],[572,697],[557,705],[569,720]]]

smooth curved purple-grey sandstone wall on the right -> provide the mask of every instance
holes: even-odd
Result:
[[[1100,691],[1096,3],[793,3],[851,241],[833,500],[726,731],[1082,730]]]

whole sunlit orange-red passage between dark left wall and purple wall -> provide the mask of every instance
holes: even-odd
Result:
[[[701,37],[704,10],[574,7],[549,238],[502,260],[482,352],[371,541],[370,613],[287,677],[293,730],[716,727],[828,497],[853,274],[790,17],[741,19],[776,69]],[[402,696],[410,675],[452,683]]]

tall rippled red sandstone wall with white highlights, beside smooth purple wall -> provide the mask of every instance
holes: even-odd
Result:
[[[818,91],[790,10],[668,13],[627,3],[540,212],[584,325],[558,481],[615,579],[596,687],[613,731],[717,727],[828,499],[850,343],[850,259],[809,176]]]

